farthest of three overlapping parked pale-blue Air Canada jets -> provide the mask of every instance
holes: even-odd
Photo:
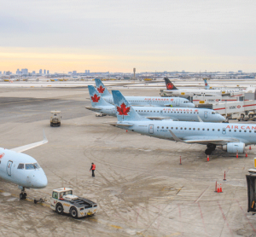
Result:
[[[95,78],[97,91],[103,99],[113,104],[113,96],[102,84],[100,79]],[[188,99],[180,97],[154,97],[154,96],[125,96],[126,100],[133,106],[152,106],[152,107],[195,107]]]

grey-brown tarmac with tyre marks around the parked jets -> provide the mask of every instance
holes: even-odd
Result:
[[[124,95],[159,95],[159,89],[120,87]],[[3,236],[256,236],[256,217],[247,213],[248,157],[125,132],[96,118],[86,88],[0,88],[1,147],[43,139],[25,153],[48,177],[43,189],[26,190],[0,179]],[[61,127],[49,126],[49,111],[61,110]],[[179,165],[180,158],[182,165]],[[92,178],[90,164],[96,164]],[[226,181],[224,179],[226,172]],[[215,183],[223,193],[215,193]],[[73,219],[49,208],[54,188],[95,201],[93,217]],[[32,200],[46,198],[44,205]]]

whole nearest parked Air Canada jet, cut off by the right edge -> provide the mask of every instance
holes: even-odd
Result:
[[[112,93],[118,122],[108,124],[118,128],[175,142],[207,145],[207,155],[217,146],[228,153],[244,153],[245,146],[256,144],[256,124],[149,120],[139,115],[119,90]]]

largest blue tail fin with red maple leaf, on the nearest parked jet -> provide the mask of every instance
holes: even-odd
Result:
[[[113,102],[116,107],[116,115],[119,121],[137,121],[137,120],[148,120],[143,116],[140,116],[131,107],[130,103],[126,101],[124,95],[119,90],[112,90]]]

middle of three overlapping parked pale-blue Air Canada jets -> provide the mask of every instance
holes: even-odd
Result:
[[[90,93],[91,107],[85,107],[89,110],[105,113],[110,116],[116,116],[116,108],[102,98],[102,95],[92,86],[88,85]],[[133,107],[135,111],[153,120],[172,119],[178,121],[203,121],[203,122],[223,122],[222,115],[212,109],[207,108],[188,108],[188,107]],[[199,118],[198,118],[199,117]]]

